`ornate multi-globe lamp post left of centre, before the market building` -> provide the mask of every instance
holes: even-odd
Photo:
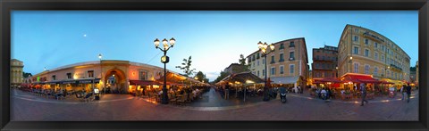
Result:
[[[155,39],[154,41],[155,43],[155,48],[161,50],[162,52],[164,52],[164,56],[161,57],[161,62],[164,63],[164,86],[163,86],[163,94],[162,94],[162,104],[168,104],[168,95],[167,95],[167,70],[166,70],[166,64],[169,60],[169,57],[167,56],[167,51],[170,50],[170,48],[172,48],[172,46],[174,46],[174,44],[176,43],[176,40],[174,38],[170,39],[170,45],[168,45],[167,39],[164,38],[163,40],[163,46],[164,49],[158,47],[159,45],[159,40],[158,38]]]

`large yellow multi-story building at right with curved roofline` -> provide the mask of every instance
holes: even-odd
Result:
[[[409,81],[410,57],[383,35],[362,27],[346,25],[338,44],[339,76],[371,74],[378,79]]]

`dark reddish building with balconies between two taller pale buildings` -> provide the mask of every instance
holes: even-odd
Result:
[[[337,78],[338,48],[324,45],[313,49],[313,78]]]

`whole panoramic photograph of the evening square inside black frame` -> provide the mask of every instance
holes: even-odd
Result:
[[[417,11],[13,11],[11,121],[418,121]]]

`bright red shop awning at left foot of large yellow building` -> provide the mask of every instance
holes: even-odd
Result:
[[[348,83],[380,83],[378,79],[373,78],[371,75],[348,73],[341,77],[341,82]]]

